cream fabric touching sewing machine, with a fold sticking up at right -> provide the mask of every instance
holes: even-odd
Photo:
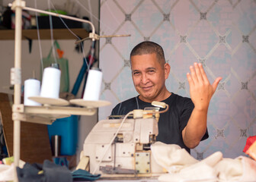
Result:
[[[216,171],[213,166],[222,159],[221,152],[216,152],[198,162],[185,149],[174,144],[157,142],[152,144],[151,149],[158,165],[169,172],[158,177],[159,181],[216,181]]]

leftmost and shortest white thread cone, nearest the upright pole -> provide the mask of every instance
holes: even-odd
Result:
[[[41,105],[38,102],[28,99],[30,96],[40,96],[40,80],[30,78],[24,81],[24,105]]]

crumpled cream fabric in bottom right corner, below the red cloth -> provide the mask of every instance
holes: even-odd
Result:
[[[219,181],[255,181],[256,162],[251,158],[239,156],[238,158],[223,158],[215,166]]]

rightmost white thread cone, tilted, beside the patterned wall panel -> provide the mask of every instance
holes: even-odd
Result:
[[[88,73],[84,100],[98,101],[101,92],[102,72],[98,67],[92,67]]]

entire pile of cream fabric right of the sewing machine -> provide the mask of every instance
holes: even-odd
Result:
[[[222,152],[215,152],[198,162],[180,146],[161,142],[152,144],[151,150],[158,165],[168,171],[158,177],[162,182],[256,182],[256,162],[251,158],[222,158]]]

